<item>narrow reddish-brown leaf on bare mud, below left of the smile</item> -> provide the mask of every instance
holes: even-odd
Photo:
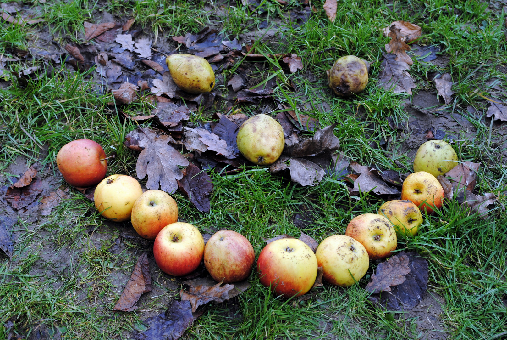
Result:
[[[139,256],[134,271],[130,276],[122,296],[113,308],[113,311],[132,312],[137,309],[135,303],[141,294],[152,290],[152,276],[150,275],[150,263],[146,253]]]

